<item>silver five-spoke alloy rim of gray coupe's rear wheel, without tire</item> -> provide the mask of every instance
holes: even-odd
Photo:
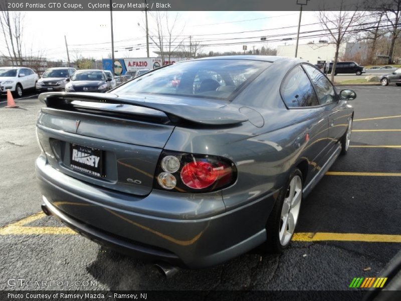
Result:
[[[287,245],[294,234],[302,200],[302,180],[299,176],[292,178],[281,209],[279,239],[282,246]]]

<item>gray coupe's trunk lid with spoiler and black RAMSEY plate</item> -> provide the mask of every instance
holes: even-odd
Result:
[[[93,185],[139,196],[151,192],[160,153],[177,122],[221,125],[247,118],[234,111],[217,114],[221,104],[212,101],[194,106],[193,100],[157,102],[111,93],[43,93],[39,98],[47,107],[38,118],[38,137],[52,167]],[[195,115],[204,117],[190,120]]]

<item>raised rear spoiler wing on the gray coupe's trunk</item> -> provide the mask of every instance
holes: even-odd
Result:
[[[125,95],[124,95],[125,96]],[[107,104],[127,104],[163,112],[172,122],[177,118],[199,124],[232,125],[248,120],[248,117],[229,106],[195,106],[168,99],[139,96],[119,97],[113,93],[68,93],[47,92],[39,95],[39,100],[50,108],[66,109],[73,101],[99,102]],[[159,100],[159,101],[156,101]]]

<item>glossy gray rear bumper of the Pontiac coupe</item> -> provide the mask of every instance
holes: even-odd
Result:
[[[263,243],[274,202],[269,195],[206,218],[165,218],[135,212],[135,197],[66,176],[46,164],[44,157],[36,161],[36,174],[48,209],[68,227],[124,254],[190,268],[227,261]],[[93,197],[85,195],[85,190],[94,189]],[[132,206],[122,208],[120,198],[131,198]],[[154,198],[159,194],[153,191],[141,201],[152,203]],[[189,197],[182,194],[182,198]]]

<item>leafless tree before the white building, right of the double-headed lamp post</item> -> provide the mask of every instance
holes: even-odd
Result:
[[[344,11],[344,4],[341,1],[340,10],[338,12],[319,11],[318,18],[320,25],[329,36],[329,44],[335,45],[334,62],[331,69],[331,81],[334,82],[335,68],[338,61],[338,54],[341,43],[348,38],[350,28],[355,31],[358,24],[361,23],[364,13],[358,12],[358,8],[354,11]]]

